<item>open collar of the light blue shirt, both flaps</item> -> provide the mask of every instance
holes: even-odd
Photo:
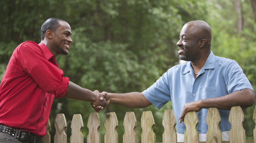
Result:
[[[213,69],[214,67],[215,67],[215,56],[213,55],[212,51],[210,51],[210,55],[208,56],[202,69],[204,71],[206,69]],[[189,72],[190,69],[192,69],[191,61],[186,63],[186,68],[182,74]]]

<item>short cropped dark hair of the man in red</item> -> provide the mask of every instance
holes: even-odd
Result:
[[[53,32],[56,31],[56,29],[60,26],[59,21],[66,22],[65,20],[58,18],[49,18],[43,23],[41,26],[41,40],[44,40],[47,30],[51,30]]]

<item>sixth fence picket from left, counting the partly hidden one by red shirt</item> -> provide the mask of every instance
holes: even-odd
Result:
[[[135,128],[137,126],[137,120],[134,112],[126,112],[123,126],[125,129],[123,143],[136,143],[137,134],[135,133]]]

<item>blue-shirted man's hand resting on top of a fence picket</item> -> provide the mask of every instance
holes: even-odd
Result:
[[[199,112],[202,108],[200,107],[200,101],[194,101],[190,103],[185,103],[183,106],[183,109],[181,111],[181,116],[180,116],[180,122],[184,121],[185,114],[189,111],[196,111]]]

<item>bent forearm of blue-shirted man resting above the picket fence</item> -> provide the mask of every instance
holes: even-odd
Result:
[[[231,94],[199,101],[200,108],[217,107],[219,109],[230,110],[232,106],[250,107],[254,104],[255,96],[251,89],[242,89]]]

